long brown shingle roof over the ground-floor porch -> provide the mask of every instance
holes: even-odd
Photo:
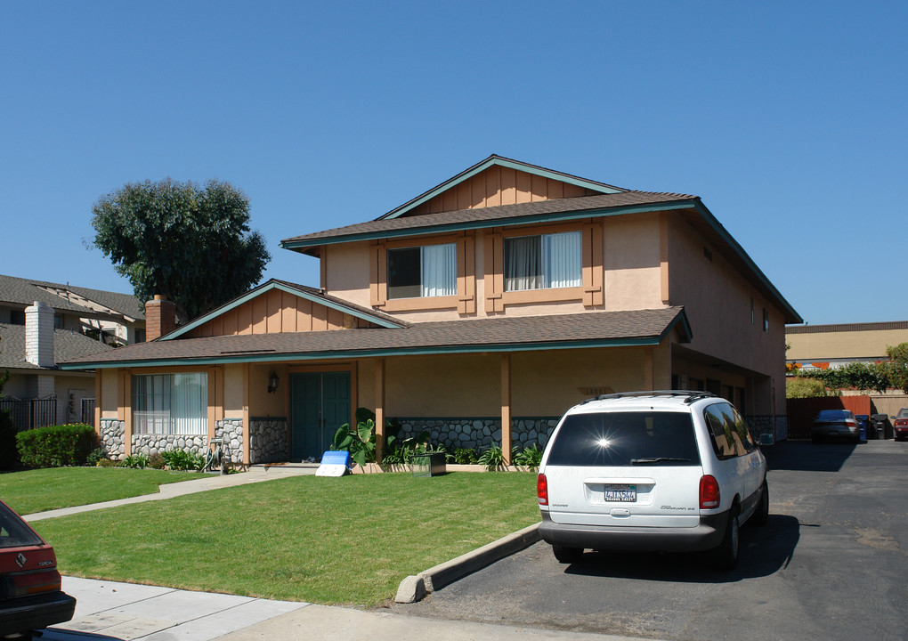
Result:
[[[684,308],[590,311],[552,316],[499,317],[424,322],[378,328],[246,334],[157,340],[71,360],[69,366],[157,365],[162,361],[311,360],[450,351],[564,349],[652,343],[681,323],[689,338]],[[591,345],[592,343],[592,345]]]

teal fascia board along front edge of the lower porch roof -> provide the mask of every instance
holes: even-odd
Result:
[[[159,359],[159,360],[122,360],[92,363],[88,367],[95,370],[110,370],[116,368],[146,368],[146,367],[173,367],[187,365],[222,365],[229,363],[273,363],[295,362],[310,360],[350,360],[367,359],[387,356],[433,356],[443,354],[475,354],[475,353],[500,353],[509,351],[540,351],[540,350],[581,350],[603,347],[651,347],[662,342],[666,332],[659,336],[646,336],[628,339],[605,340],[571,340],[549,341],[538,343],[521,343],[518,345],[498,343],[492,345],[450,345],[430,348],[397,348],[392,350],[338,350],[330,352],[291,352],[281,354],[237,354],[234,356],[212,356],[200,359]],[[63,364],[64,370],[78,369],[78,364]],[[82,365],[84,369],[86,366]]]

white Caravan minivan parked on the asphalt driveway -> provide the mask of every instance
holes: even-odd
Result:
[[[539,533],[562,563],[584,549],[713,550],[735,567],[738,528],[769,515],[766,459],[725,399],[640,391],[587,400],[539,466]]]

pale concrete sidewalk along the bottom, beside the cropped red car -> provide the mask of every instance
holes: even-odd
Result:
[[[42,637],[48,641],[631,641],[623,636],[448,621],[85,578],[64,577],[63,587],[76,598],[75,616],[48,628]]]

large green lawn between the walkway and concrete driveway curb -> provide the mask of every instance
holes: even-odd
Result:
[[[301,476],[42,521],[66,575],[375,606],[538,522],[536,475]]]

